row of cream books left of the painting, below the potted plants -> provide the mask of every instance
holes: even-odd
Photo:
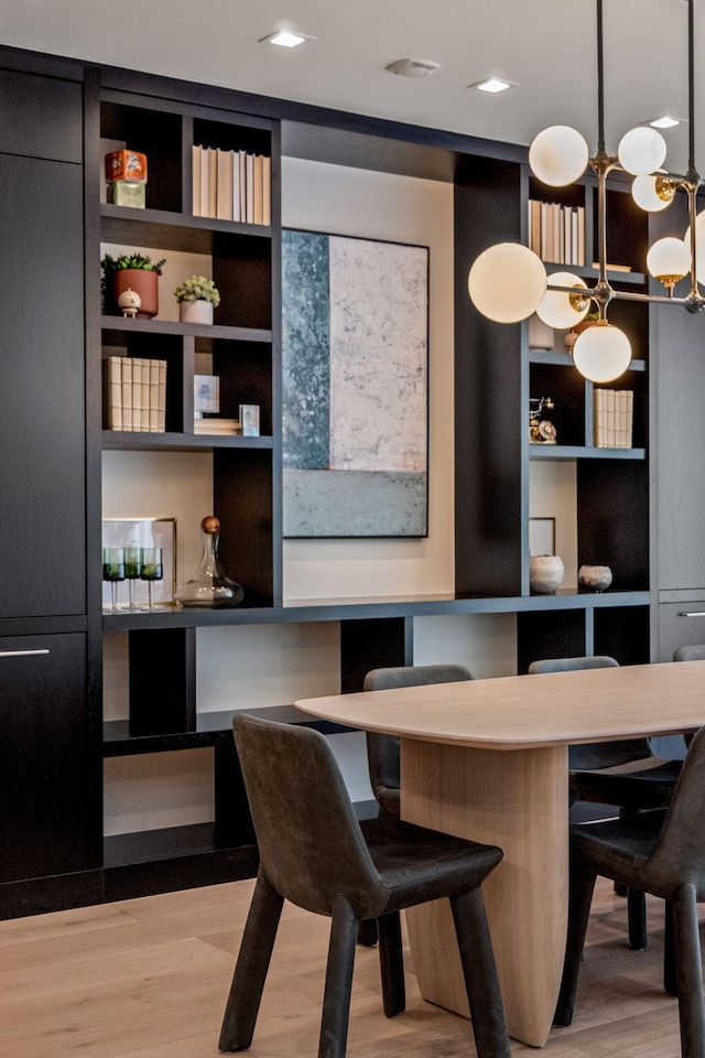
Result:
[[[106,430],[165,432],[166,360],[108,356],[102,379]]]

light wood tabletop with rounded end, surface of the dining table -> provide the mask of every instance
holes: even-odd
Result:
[[[705,661],[435,683],[295,704],[355,727],[476,748],[609,742],[705,724]]]

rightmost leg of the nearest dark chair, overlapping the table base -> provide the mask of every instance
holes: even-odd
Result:
[[[481,888],[452,897],[451,908],[478,1058],[509,1058],[505,1005]]]

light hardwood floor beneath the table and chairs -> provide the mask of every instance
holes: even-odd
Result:
[[[0,922],[3,1058],[217,1058],[251,882]],[[545,1058],[677,1058],[675,1000],[661,991],[663,915],[630,951],[625,900],[598,882],[576,1016]],[[285,906],[252,1058],[315,1058],[328,922]],[[419,997],[381,1011],[377,951],[358,948],[349,1058],[471,1058],[467,1022]],[[540,1054],[512,1044],[513,1055]]]

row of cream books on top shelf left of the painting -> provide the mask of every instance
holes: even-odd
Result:
[[[195,217],[271,224],[271,159],[247,151],[193,148]]]

